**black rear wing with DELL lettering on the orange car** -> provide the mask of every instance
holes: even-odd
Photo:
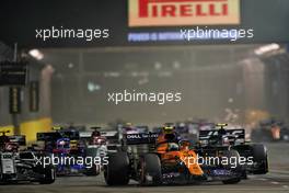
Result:
[[[155,144],[159,133],[124,134],[126,145]]]

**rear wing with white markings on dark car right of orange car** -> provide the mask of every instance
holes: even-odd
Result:
[[[210,129],[210,130],[199,130],[199,141],[209,140],[215,136],[234,136],[235,140],[239,143],[245,143],[245,129],[235,128],[235,129],[224,129],[226,133],[221,134],[221,129]]]

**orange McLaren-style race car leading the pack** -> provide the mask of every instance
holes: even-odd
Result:
[[[125,185],[134,179],[143,185],[171,183],[192,183],[219,180],[223,183],[238,183],[243,169],[231,163],[199,163],[199,152],[207,158],[209,150],[190,147],[190,143],[182,140],[173,128],[164,127],[163,133],[127,134],[126,151],[108,155],[104,178],[108,185]],[[135,154],[131,145],[154,144],[152,151]],[[219,157],[231,160],[232,151],[219,151]],[[234,151],[235,152],[235,151]],[[215,157],[213,157],[215,158]]]

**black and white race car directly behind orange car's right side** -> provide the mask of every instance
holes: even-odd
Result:
[[[263,144],[246,143],[244,128],[224,129],[226,126],[228,125],[217,124],[219,128],[200,130],[197,154],[203,157],[226,154],[239,160],[235,162],[235,168],[242,175],[228,183],[236,183],[242,178],[246,178],[246,174],[267,173],[267,148]]]

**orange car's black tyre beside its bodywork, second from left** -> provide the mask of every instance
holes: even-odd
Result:
[[[158,155],[148,154],[140,159],[140,184],[159,185],[162,181],[161,161]]]

